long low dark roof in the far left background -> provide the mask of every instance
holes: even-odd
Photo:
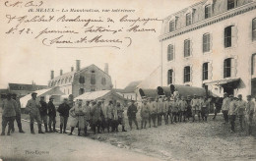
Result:
[[[36,85],[26,83],[8,83],[10,90],[29,90],[34,91],[42,88],[46,88],[47,85]]]

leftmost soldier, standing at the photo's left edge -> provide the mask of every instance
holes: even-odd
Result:
[[[10,135],[11,129],[13,128],[16,112],[16,102],[12,99],[12,94],[7,94],[7,99],[3,102],[3,113],[2,113],[2,134],[5,135],[6,126],[8,126],[7,135]]]

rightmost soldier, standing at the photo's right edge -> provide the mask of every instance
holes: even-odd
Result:
[[[253,121],[253,114],[255,111],[255,103],[251,100],[251,95],[247,95],[247,103],[246,103],[246,127],[248,129],[248,134],[252,133],[252,121]]]

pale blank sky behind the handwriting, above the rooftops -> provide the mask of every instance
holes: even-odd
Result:
[[[146,27],[156,28],[156,32],[136,32],[122,33],[120,36],[132,38],[129,47],[116,48],[56,48],[41,44],[40,37],[34,39],[32,34],[7,34],[6,32],[15,26],[15,23],[8,24],[6,15],[55,15],[61,16],[63,13],[28,13],[28,8],[5,7],[5,1],[0,4],[0,88],[6,88],[9,82],[47,84],[50,79],[50,71],[55,72],[55,77],[59,76],[59,71],[70,72],[71,67],[75,67],[76,60],[81,60],[81,67],[95,64],[100,69],[104,69],[104,64],[108,63],[109,75],[114,86],[125,87],[134,80],[146,79],[156,68],[160,66],[160,28],[161,22],[150,22]],[[29,2],[29,1],[28,1]],[[37,1],[35,1],[37,2]],[[127,9],[135,10],[128,14],[130,18],[163,18],[180,11],[199,0],[57,0],[43,1],[43,8],[55,9]],[[77,13],[74,13],[74,16]],[[67,16],[72,13],[66,14]],[[80,13],[81,15],[81,13]],[[82,13],[86,18],[107,18],[119,20],[125,13]],[[111,27],[129,26],[130,24],[118,24]],[[58,28],[59,24],[31,24],[21,25],[20,28],[32,28],[36,32],[43,27]],[[65,25],[66,26],[66,25]],[[67,27],[76,28],[75,24],[67,24]],[[77,27],[76,29],[79,29]],[[115,84],[116,82],[116,84]]]

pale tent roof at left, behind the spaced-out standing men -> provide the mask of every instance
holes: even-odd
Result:
[[[40,96],[45,96],[45,95],[64,95],[64,93],[60,91],[58,87],[35,90],[34,92],[37,93],[36,99],[38,99]],[[20,99],[22,108],[26,107],[27,102],[30,99],[32,99],[32,94],[27,94],[26,96]]]

